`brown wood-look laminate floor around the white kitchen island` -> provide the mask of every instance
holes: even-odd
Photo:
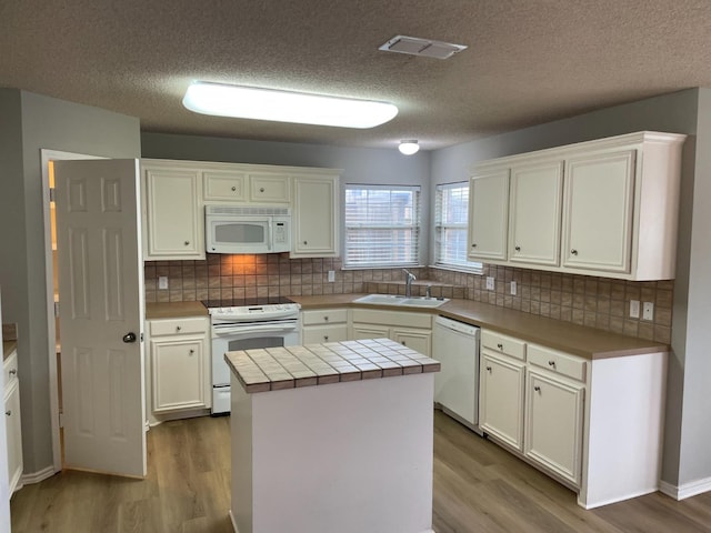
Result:
[[[67,471],[21,489],[11,501],[12,532],[231,532],[229,420],[208,416],[153,428],[143,481]],[[683,502],[657,493],[585,511],[571,491],[437,412],[433,527],[437,533],[711,532],[711,493]]]

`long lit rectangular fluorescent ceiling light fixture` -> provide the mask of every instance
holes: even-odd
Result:
[[[398,114],[398,108],[388,102],[206,81],[192,83],[182,104],[196,113],[217,117],[361,129],[383,124]]]

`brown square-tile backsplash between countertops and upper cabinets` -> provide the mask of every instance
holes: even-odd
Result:
[[[288,254],[208,254],[201,261],[144,263],[146,301],[182,302],[279,295],[387,292],[404,294],[401,269],[341,270],[340,259],[289,259]],[[418,281],[413,293],[468,298],[531,314],[669,343],[673,281],[630,282],[510,266],[484,265],[484,274],[435,268],[410,269]],[[336,281],[328,281],[333,271]],[[168,290],[158,290],[158,276]],[[487,276],[494,290],[485,289]],[[510,294],[515,281],[517,294]],[[653,321],[629,318],[630,301],[652,302]],[[640,311],[641,312],[641,311]]]

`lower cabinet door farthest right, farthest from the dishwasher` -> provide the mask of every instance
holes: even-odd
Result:
[[[529,370],[525,455],[580,485],[584,385]]]

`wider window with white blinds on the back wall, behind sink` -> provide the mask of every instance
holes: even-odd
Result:
[[[420,188],[346,185],[346,268],[415,266]]]

